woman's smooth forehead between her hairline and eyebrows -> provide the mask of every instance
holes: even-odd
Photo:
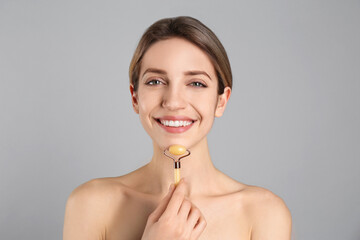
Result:
[[[154,43],[144,54],[140,74],[147,68],[158,68],[174,74],[199,70],[206,71],[212,78],[216,76],[208,55],[193,43],[181,38]]]

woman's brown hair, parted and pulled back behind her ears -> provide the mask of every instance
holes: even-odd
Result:
[[[130,63],[130,83],[137,91],[141,60],[149,47],[157,41],[180,37],[195,44],[211,59],[218,78],[218,94],[225,87],[232,88],[232,74],[226,51],[216,35],[192,17],[164,18],[152,24],[143,34]]]

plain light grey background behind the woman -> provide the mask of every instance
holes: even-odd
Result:
[[[190,15],[234,74],[214,164],[287,203],[293,239],[360,239],[359,1],[0,1],[1,239],[61,239],[68,195],[146,164],[127,70],[154,21]]]

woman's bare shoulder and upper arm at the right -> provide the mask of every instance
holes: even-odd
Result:
[[[243,194],[252,225],[252,240],[291,238],[291,214],[279,196],[257,186],[246,186]]]

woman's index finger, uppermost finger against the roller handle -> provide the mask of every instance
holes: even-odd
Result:
[[[181,179],[173,194],[171,195],[171,199],[163,216],[170,218],[171,216],[177,215],[186,195],[188,195],[188,186],[187,183]]]

